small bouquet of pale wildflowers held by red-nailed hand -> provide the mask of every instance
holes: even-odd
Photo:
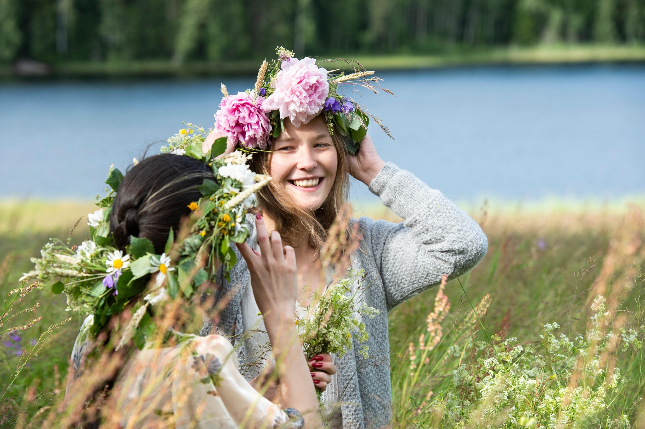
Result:
[[[368,358],[369,336],[365,324],[357,316],[374,318],[379,310],[362,303],[355,305],[355,298],[361,293],[360,287],[365,278],[362,269],[349,269],[348,276],[335,285],[330,285],[323,294],[315,292],[312,303],[303,310],[309,318],[296,316],[296,324],[303,341],[306,356],[313,357],[321,353],[333,353],[342,357],[352,347],[352,336],[361,343],[361,355]],[[356,287],[353,287],[356,286]]]

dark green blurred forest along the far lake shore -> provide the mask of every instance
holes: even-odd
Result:
[[[0,62],[645,42],[645,0],[0,0]]]

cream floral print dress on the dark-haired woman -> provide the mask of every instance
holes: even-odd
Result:
[[[72,351],[75,377],[92,349],[88,329],[79,331]],[[304,427],[297,410],[282,410],[257,392],[238,372],[232,345],[219,335],[176,334],[172,347],[135,350],[121,368],[112,390],[119,423],[132,428],[290,428]]]

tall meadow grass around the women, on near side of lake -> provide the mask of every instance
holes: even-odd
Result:
[[[590,329],[590,316],[595,314],[591,306],[598,294],[607,298],[610,310],[612,305],[614,309],[613,319],[599,328],[603,335],[612,329],[619,332],[621,328],[638,329],[645,324],[641,312],[644,296],[639,283],[640,265],[645,260],[644,206],[642,198],[635,201],[637,204],[633,205],[608,202],[528,208],[501,204],[473,207],[469,213],[489,240],[484,260],[459,280],[446,283],[442,288],[445,296],[439,294],[437,298],[438,289],[433,288],[390,312],[395,426],[600,427],[593,426],[597,419],[591,419],[591,423],[578,419],[564,426],[550,426],[548,419],[528,417],[504,426],[510,419],[508,416],[521,407],[504,405],[497,409],[491,398],[501,403],[500,395],[510,396],[511,376],[521,379],[526,375],[511,370],[515,363],[523,365],[524,371],[530,372],[527,368],[536,362],[541,363],[541,368],[555,371],[535,377],[536,392],[541,392],[535,396],[539,403],[548,402],[545,393],[550,392],[548,386],[567,386],[571,374],[577,374],[576,358],[582,356],[582,349],[556,350],[557,356],[564,356],[560,360],[550,356],[544,341],[551,341],[553,332],[544,325],[553,322],[559,325],[554,338],[560,338],[562,333],[571,339],[584,334]],[[90,211],[93,211],[92,204],[83,202],[0,204],[0,297],[19,286],[17,279],[21,273],[33,267],[29,258],[38,256],[48,238],[66,239],[79,217]],[[362,214],[397,220],[382,207],[373,207],[369,213]],[[84,222],[85,219],[81,220],[81,227],[72,234],[73,243],[87,238]],[[481,312],[473,311],[482,300],[488,302],[486,296],[490,296],[488,306],[479,307]],[[34,414],[57,401],[64,389],[68,358],[83,317],[65,312],[64,296],[52,294],[46,285],[29,292],[15,306],[21,310],[36,303],[40,306],[34,311],[19,314],[0,327],[3,332],[0,334],[0,379],[5,383],[0,385],[1,427],[35,422]],[[42,319],[33,327],[8,336],[6,330],[26,325],[37,316]],[[619,316],[620,326],[615,320]],[[71,318],[68,323],[48,330],[67,318]],[[468,325],[466,328],[464,323]],[[511,338],[517,340],[509,341]],[[638,338],[642,340],[642,332]],[[36,350],[43,345],[37,352],[32,346],[35,341],[39,341]],[[608,365],[607,369],[611,370],[611,365],[620,367],[622,374],[619,388],[612,390],[613,396],[608,396],[604,403],[605,414],[599,417],[604,418],[602,427],[642,427],[636,426],[643,424],[636,423],[640,418],[640,399],[645,393],[642,347],[637,342],[632,341],[630,345],[626,341],[630,347],[620,352],[620,347],[612,350],[606,343],[602,343],[604,348],[592,343],[586,343],[586,348],[595,347],[595,354],[604,359],[602,363]],[[513,348],[516,345],[522,345],[523,351],[511,356],[515,353],[513,350],[517,351]],[[497,364],[491,364],[492,357],[497,359]],[[13,377],[23,363],[19,376]],[[495,371],[490,365],[501,365],[502,370]],[[556,371],[553,368],[557,365],[560,370]],[[471,377],[462,377],[458,368],[463,368]],[[586,373],[583,370],[578,373],[584,379]],[[495,384],[491,376],[507,378]],[[582,384],[590,385],[596,392],[592,397],[599,397],[599,386],[610,383],[605,378]],[[464,380],[470,380],[471,386]],[[492,390],[485,390],[486,386]],[[459,399],[459,407],[455,407],[455,398]],[[576,403],[572,399],[567,401]],[[451,407],[452,411],[448,409]],[[496,421],[491,420],[490,410],[496,410]],[[617,419],[622,415],[634,426],[620,426]],[[500,416],[506,420],[500,420]],[[460,423],[455,424],[454,419]]]

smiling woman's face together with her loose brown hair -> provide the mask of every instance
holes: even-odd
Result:
[[[257,193],[258,205],[272,219],[274,229],[281,231],[285,243],[298,245],[303,236],[309,236],[312,245],[321,247],[327,229],[347,201],[347,137],[334,128],[330,135],[323,115],[299,127],[285,120],[283,132],[272,140],[273,153],[253,155],[251,167],[273,177]]]

